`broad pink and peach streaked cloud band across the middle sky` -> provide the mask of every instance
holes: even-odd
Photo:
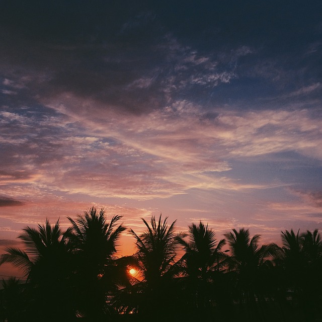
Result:
[[[305,110],[218,110],[208,118],[199,105],[176,101],[124,116],[74,96],[60,102],[65,104],[37,114],[32,108],[24,114],[3,109],[1,175],[6,188],[29,184],[140,200],[191,189],[261,190],[283,183],[232,179],[229,160],[283,151],[322,159],[315,148],[322,144],[320,122]]]

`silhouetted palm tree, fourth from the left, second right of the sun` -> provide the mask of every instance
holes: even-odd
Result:
[[[226,256],[221,251],[225,240],[217,243],[215,232],[199,222],[189,226],[189,241],[181,239],[185,254],[181,259],[185,277],[186,295],[189,295],[190,309],[203,313],[210,311],[210,302],[214,299],[214,284],[218,281],[218,273],[224,266]],[[218,285],[215,286],[217,288]]]

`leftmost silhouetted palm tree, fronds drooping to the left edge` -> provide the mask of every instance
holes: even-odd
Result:
[[[37,229],[27,226],[18,236],[25,250],[6,248],[7,254],[1,256],[0,265],[11,263],[21,269],[30,283],[29,292],[33,302],[29,306],[33,320],[71,320],[72,306],[69,305],[69,254],[66,235],[57,220],[51,226],[48,219]],[[32,287],[32,288],[31,288]],[[50,316],[44,317],[47,312]],[[27,317],[26,317],[27,320]]]

